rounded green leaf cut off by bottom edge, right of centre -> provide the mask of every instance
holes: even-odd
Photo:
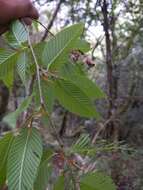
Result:
[[[81,190],[116,190],[111,177],[101,172],[88,173],[80,181]]]

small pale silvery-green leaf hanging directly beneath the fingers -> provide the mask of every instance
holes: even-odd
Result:
[[[11,32],[20,46],[28,39],[27,31],[19,20],[12,22]]]

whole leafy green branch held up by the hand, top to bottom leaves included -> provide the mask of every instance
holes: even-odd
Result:
[[[6,34],[11,48],[0,52],[0,79],[9,88],[13,85],[15,72],[20,76],[25,88],[31,76],[35,80],[32,90],[30,89],[30,96],[4,120],[16,128],[19,115],[28,108],[33,97],[35,107],[16,133],[10,132],[0,139],[1,188],[7,184],[9,190],[46,189],[53,173],[50,163],[56,152],[51,150],[49,156],[49,149],[43,150],[40,132],[32,122],[37,115],[46,115],[49,119],[55,100],[80,116],[99,118],[94,100],[105,95],[88,79],[82,65],[72,63],[69,58],[73,49],[84,53],[89,51],[89,44],[80,39],[82,33],[83,25],[76,24],[62,30],[47,42],[32,45],[27,27],[16,21],[11,26],[11,32]],[[87,144],[87,140],[83,138],[77,142],[71,152],[79,149],[81,142]],[[63,147],[60,147],[60,151],[63,152],[64,160],[68,160]],[[64,189],[63,181],[61,176],[54,189]],[[74,184],[74,180],[71,183]],[[80,176],[80,188],[114,190],[115,186],[108,176],[88,173]]]

